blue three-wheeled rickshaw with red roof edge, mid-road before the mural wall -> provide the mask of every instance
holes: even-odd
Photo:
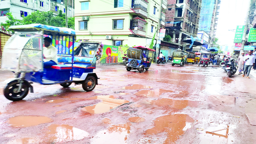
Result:
[[[126,70],[130,71],[132,69],[137,69],[140,73],[142,73],[144,69],[148,70],[151,65],[154,52],[156,51],[144,46],[128,48],[127,56],[129,59],[125,67]]]

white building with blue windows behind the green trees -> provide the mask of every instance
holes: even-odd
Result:
[[[64,1],[65,2],[65,1]],[[72,0],[68,0],[68,10],[65,10],[65,4],[61,0],[1,0],[0,1],[0,22],[7,20],[6,13],[12,12],[12,16],[18,20],[22,20],[22,16],[26,17],[35,11],[53,11],[54,15],[58,15],[59,10],[68,12],[68,17],[73,16]]]

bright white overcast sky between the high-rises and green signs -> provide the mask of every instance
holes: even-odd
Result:
[[[249,0],[221,0],[216,31],[219,45],[232,46],[234,44],[235,32],[228,30],[236,29],[236,26],[245,25],[248,5]]]

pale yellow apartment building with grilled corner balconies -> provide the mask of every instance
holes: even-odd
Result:
[[[159,12],[164,27],[167,0],[75,1],[76,39],[107,45],[148,46],[155,34]]]

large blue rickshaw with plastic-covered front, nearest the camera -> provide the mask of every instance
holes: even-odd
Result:
[[[15,77],[5,80],[4,96],[8,100],[22,100],[33,91],[32,83],[43,85],[60,84],[68,87],[71,83],[82,84],[89,92],[98,84],[93,73],[96,60],[101,56],[103,45],[100,42],[81,43],[74,50],[75,31],[42,24],[11,26],[15,33],[4,46],[2,69],[15,73]],[[44,68],[43,41],[50,36],[66,47],[58,45],[58,62],[51,68]],[[55,42],[56,42],[55,41]],[[68,44],[72,48],[68,48]],[[56,45],[57,46],[57,45]]]

